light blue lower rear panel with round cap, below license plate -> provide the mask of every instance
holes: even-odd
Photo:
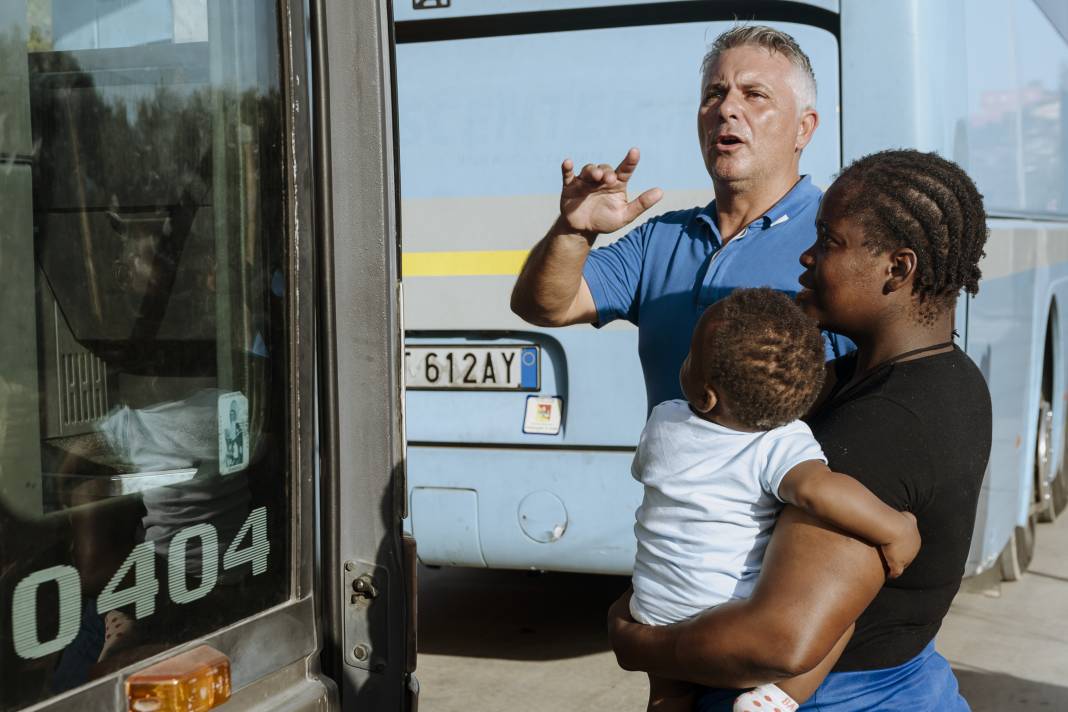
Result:
[[[424,564],[629,574],[642,487],[629,450],[408,447]],[[458,506],[459,505],[459,506]]]

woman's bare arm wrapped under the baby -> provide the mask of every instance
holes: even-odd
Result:
[[[786,507],[750,599],[654,627],[630,618],[627,594],[609,611],[609,635],[625,669],[716,687],[755,686],[815,667],[884,577],[873,547]]]

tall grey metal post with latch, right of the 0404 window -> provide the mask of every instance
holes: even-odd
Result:
[[[392,26],[386,0],[314,7],[324,663],[345,710],[410,710]]]

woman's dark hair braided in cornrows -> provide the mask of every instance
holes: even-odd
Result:
[[[875,253],[916,253],[912,294],[930,320],[956,303],[961,289],[979,290],[979,259],[987,241],[983,195],[953,161],[918,151],[883,151],[851,163],[843,185],[843,211],[862,222]]]

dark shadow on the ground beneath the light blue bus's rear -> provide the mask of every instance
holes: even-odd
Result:
[[[608,606],[629,579],[419,569],[419,652],[543,661],[609,649]]]

